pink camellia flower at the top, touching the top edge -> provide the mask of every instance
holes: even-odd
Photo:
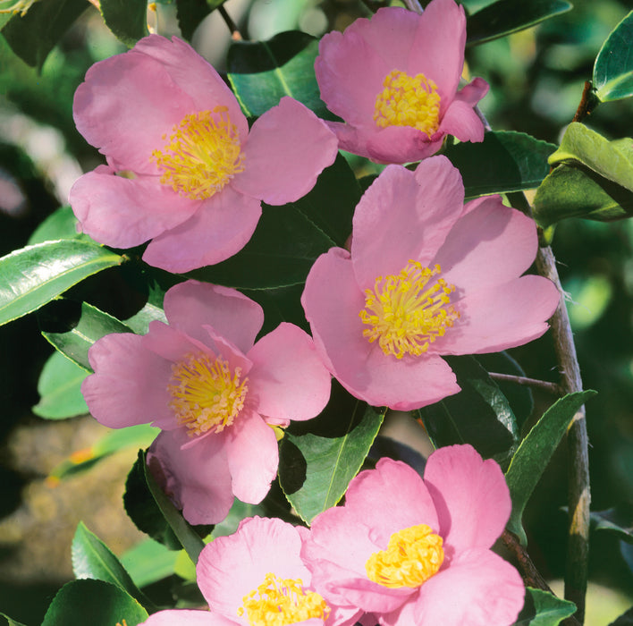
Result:
[[[484,140],[474,107],[488,84],[458,91],[466,18],[453,0],[432,0],[424,13],[379,9],[344,33],[321,39],[316,80],[325,105],[345,123],[330,123],[342,149],[377,163],[408,163],[435,154],[446,135]]]

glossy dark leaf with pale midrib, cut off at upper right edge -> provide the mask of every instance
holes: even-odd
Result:
[[[612,30],[594,64],[595,95],[602,102],[633,96],[633,11]]]

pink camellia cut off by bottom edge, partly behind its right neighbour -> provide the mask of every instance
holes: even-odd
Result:
[[[209,612],[161,611],[145,626],[348,626],[361,613],[327,602],[310,584],[300,559],[308,529],[282,520],[242,520],[229,537],[200,553],[198,587]]]

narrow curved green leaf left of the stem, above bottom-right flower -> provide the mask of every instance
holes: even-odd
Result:
[[[567,432],[576,411],[593,395],[595,391],[592,390],[569,393],[554,402],[532,427],[512,457],[505,475],[512,499],[512,512],[507,528],[519,537],[523,546],[526,545],[527,538],[521,518],[529,497],[562,436]]]

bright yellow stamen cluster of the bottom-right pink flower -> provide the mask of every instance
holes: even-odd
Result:
[[[398,530],[386,550],[375,552],[365,563],[367,578],[383,587],[419,587],[434,576],[444,560],[442,537],[426,524]]]

